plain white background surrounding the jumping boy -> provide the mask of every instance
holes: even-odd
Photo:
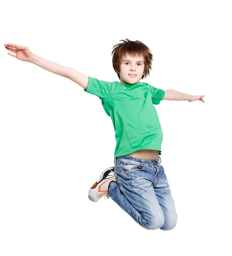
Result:
[[[230,1],[10,1],[0,6],[0,255],[231,255]],[[97,96],[11,57],[4,44],[118,81],[112,48],[139,40],[154,87],[205,95],[154,105],[173,230],[140,227],[90,187],[114,166],[115,131]],[[12,53],[12,52],[11,52]],[[12,53],[13,54],[13,53]]]

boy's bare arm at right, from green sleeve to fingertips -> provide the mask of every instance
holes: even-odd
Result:
[[[162,100],[168,99],[168,100],[187,100],[188,102],[192,102],[195,100],[200,100],[202,102],[204,95],[190,95],[186,93],[180,93],[176,90],[168,89],[165,90],[165,94]]]

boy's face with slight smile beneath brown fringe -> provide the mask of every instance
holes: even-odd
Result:
[[[144,58],[132,57],[128,53],[123,55],[120,64],[120,83],[121,84],[137,84],[144,75]],[[129,76],[135,74],[136,76]]]

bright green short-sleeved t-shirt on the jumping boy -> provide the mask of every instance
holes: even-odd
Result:
[[[158,105],[164,90],[150,84],[121,84],[88,78],[87,93],[98,96],[115,128],[115,157],[140,149],[159,150],[163,132],[153,104]]]

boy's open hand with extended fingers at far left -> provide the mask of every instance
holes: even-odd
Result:
[[[16,55],[13,55],[7,52],[12,57],[17,58],[20,61],[31,62],[33,53],[29,50],[28,47],[20,46],[17,44],[4,44],[4,45],[5,45],[5,48],[8,49],[9,51],[16,53]]]

